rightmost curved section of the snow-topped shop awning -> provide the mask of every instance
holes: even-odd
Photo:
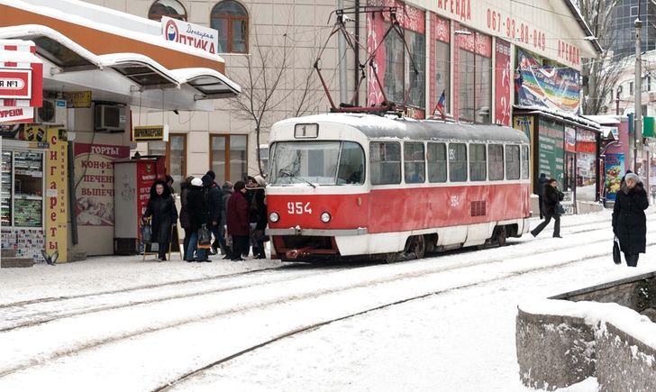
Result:
[[[226,98],[241,93],[241,87],[214,69],[179,68],[171,72],[178,77],[181,84],[196,88],[200,93],[195,96],[196,100]]]

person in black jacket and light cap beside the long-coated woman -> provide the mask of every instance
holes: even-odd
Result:
[[[189,219],[189,245],[187,248],[187,261],[209,261],[205,249],[198,249],[198,229],[210,223],[209,209],[205,200],[203,181],[200,178],[191,180],[191,187],[187,195],[187,214]],[[196,252],[196,258],[194,257]]]

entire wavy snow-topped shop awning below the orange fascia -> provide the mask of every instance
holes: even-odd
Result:
[[[0,39],[36,44],[44,64],[44,89],[89,90],[95,100],[160,110],[206,111],[214,110],[214,105],[199,101],[241,92],[237,84],[215,69],[169,69],[141,53],[96,55],[47,26],[2,27]]]

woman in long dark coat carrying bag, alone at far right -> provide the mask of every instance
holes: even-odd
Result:
[[[640,178],[629,173],[624,177],[624,185],[617,192],[613,207],[613,232],[624,252],[624,260],[629,267],[638,266],[640,253],[644,253],[647,242],[647,219],[644,210],[649,207],[647,192]]]

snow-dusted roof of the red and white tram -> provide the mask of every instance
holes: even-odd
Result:
[[[278,123],[278,126],[289,126],[296,123],[336,123],[349,125],[363,132],[368,138],[528,142],[528,138],[524,135],[524,132],[507,126],[445,123],[434,120],[420,121],[399,118],[396,115],[316,114],[283,120]]]

